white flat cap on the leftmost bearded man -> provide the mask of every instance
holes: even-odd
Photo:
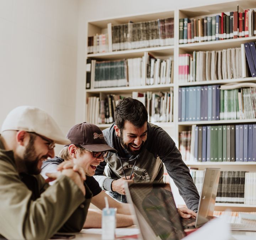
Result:
[[[35,132],[55,143],[70,143],[54,119],[46,111],[36,107],[20,106],[11,110],[1,128],[2,132],[7,130]]]

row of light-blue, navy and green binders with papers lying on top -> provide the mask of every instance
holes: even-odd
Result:
[[[255,83],[181,87],[178,98],[178,121],[256,119]]]

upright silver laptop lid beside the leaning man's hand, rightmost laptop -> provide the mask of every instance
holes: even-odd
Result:
[[[220,168],[206,168],[204,170],[203,187],[196,218],[196,228],[201,227],[213,217],[219,176]]]

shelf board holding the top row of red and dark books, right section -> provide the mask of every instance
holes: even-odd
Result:
[[[256,40],[256,37],[234,38],[234,39],[201,42],[201,43],[179,44],[178,47],[179,49],[183,49],[187,52],[222,50],[226,48],[240,47],[240,44],[242,43],[248,43],[255,40]]]

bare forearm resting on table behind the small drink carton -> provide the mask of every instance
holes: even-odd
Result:
[[[84,228],[101,228],[102,211],[97,209],[89,209]],[[117,228],[129,227],[133,225],[131,215],[116,214]]]

